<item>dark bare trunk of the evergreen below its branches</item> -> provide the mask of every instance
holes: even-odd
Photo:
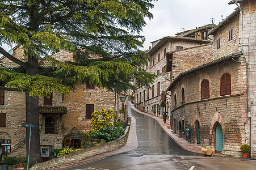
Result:
[[[38,97],[29,96],[26,93],[26,122],[27,124],[37,125],[36,128],[31,128],[31,141],[30,141],[30,128],[27,128],[27,158],[30,154],[30,165],[43,162],[40,152],[40,134],[39,134],[39,108]],[[29,149],[30,144],[30,149]],[[30,150],[30,153],[28,152]]]

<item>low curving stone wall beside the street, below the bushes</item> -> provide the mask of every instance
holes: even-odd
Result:
[[[120,148],[121,146],[125,145],[128,135],[129,135],[130,125],[128,123],[124,135],[122,135],[120,138],[115,139],[115,141],[111,141],[108,143],[103,143],[102,145],[97,145],[94,147],[86,148],[81,151],[73,152],[72,154],[68,154],[65,156],[61,156],[59,158],[48,160],[47,162],[39,163],[36,165],[33,165],[30,169],[44,169],[49,168],[55,165],[68,163],[74,160],[82,159],[88,156],[93,156],[97,154],[102,154],[104,152],[113,151],[117,148]]]

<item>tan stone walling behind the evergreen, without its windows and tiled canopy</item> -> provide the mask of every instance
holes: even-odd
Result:
[[[14,57],[25,59],[22,46],[14,48]],[[74,53],[61,49],[60,52],[53,54],[53,58],[61,61],[74,61]],[[1,58],[1,66],[14,67],[14,63],[10,62],[6,57]],[[20,91],[5,90],[5,104],[0,105],[0,112],[6,113],[6,126],[0,128],[0,139],[11,140],[11,145],[16,146],[23,141],[22,147],[11,152],[14,156],[26,156],[26,128],[22,128],[21,124],[26,123],[26,105],[25,93]],[[118,107],[117,107],[118,100]],[[69,133],[77,133],[78,131],[87,132],[90,130],[90,118],[86,118],[86,104],[93,104],[94,110],[99,111],[101,108],[113,109],[122,107],[119,97],[115,99],[114,92],[108,91],[106,88],[87,88],[86,84],[75,85],[75,90],[69,94],[53,94],[52,105],[44,106],[44,97],[39,97],[39,107],[48,107],[54,110],[56,107],[66,108],[66,113],[51,112],[39,114],[40,128],[40,145],[43,148],[61,148],[64,145],[65,137]],[[120,121],[127,121],[128,97],[124,101],[125,115],[120,115]],[[39,109],[40,110],[40,109]],[[117,110],[117,109],[116,109]],[[39,111],[40,112],[40,111]],[[51,133],[47,127],[47,120],[53,120],[51,124]],[[47,156],[46,159],[47,160]]]

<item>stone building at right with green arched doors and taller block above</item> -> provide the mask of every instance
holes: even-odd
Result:
[[[255,158],[256,1],[229,4],[236,10],[208,32],[215,60],[179,74],[167,90],[171,125],[183,138],[190,128],[192,142],[226,155],[239,156],[248,144]]]

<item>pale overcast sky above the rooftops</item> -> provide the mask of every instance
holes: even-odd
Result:
[[[175,36],[181,32],[181,28],[194,29],[210,23],[211,18],[215,18],[215,24],[221,22],[230,15],[236,5],[228,5],[230,0],[158,0],[154,3],[154,8],[150,10],[154,18],[150,21],[146,19],[147,25],[141,32],[146,37],[144,48],[151,46],[150,42],[161,39],[165,36]],[[3,45],[3,48],[10,48]]]

